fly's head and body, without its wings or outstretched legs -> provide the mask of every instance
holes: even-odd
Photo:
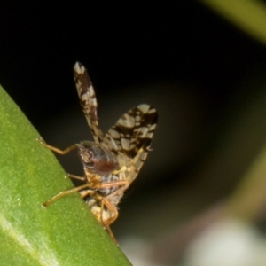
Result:
[[[111,151],[102,145],[90,141],[83,141],[78,145],[78,149],[78,155],[82,160],[88,182],[91,183],[92,188],[98,187],[96,193],[90,194],[88,197],[82,197],[90,207],[92,213],[98,218],[98,221],[102,224],[108,224],[117,212],[113,212],[106,207],[104,203],[105,198],[112,195],[108,202],[116,210],[118,209],[117,205],[123,196],[123,192],[116,193],[121,187],[118,181],[124,181],[125,176],[119,171],[117,174],[113,174],[113,171],[119,168],[118,160]],[[112,186],[102,187],[104,184],[112,184]],[[122,184],[122,186],[124,185]],[[86,194],[86,191],[82,191],[82,194]]]

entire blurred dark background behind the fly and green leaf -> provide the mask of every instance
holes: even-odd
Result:
[[[265,1],[1,1],[0,40],[0,83],[51,145],[92,139],[77,60],[103,131],[138,104],[158,110],[112,226],[134,265],[266,264]],[[82,176],[75,153],[59,161]]]

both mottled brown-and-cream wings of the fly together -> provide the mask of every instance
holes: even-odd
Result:
[[[74,65],[74,82],[95,142],[113,152],[121,167],[128,167],[127,177],[133,181],[149,152],[157,124],[156,110],[153,106],[136,106],[123,114],[104,136],[98,125],[98,104],[90,77],[79,62]]]

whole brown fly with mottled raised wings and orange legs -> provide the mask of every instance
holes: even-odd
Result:
[[[74,65],[74,81],[95,142],[82,141],[62,151],[45,144],[42,139],[39,141],[59,154],[66,154],[77,148],[84,176],[69,176],[82,180],[85,184],[59,192],[46,201],[43,207],[67,194],[80,192],[93,215],[116,242],[110,224],[118,217],[121,197],[137,177],[150,151],[157,125],[157,112],[153,106],[136,106],[123,114],[104,135],[98,125],[98,104],[90,77],[85,67],[78,62]]]

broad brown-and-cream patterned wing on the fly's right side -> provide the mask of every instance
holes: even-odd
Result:
[[[104,145],[117,155],[120,166],[132,166],[131,181],[136,178],[146,160],[157,119],[158,114],[153,106],[136,106],[122,115],[106,133]],[[129,160],[125,161],[124,157]]]

